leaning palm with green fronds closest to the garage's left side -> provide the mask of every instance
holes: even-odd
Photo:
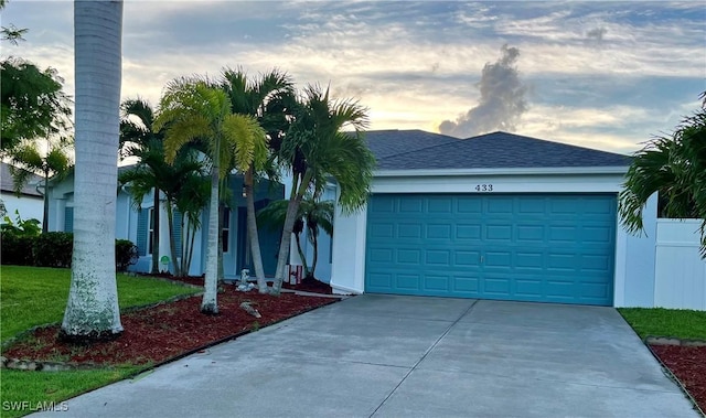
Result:
[[[352,100],[333,100],[329,89],[308,86],[279,150],[279,161],[292,174],[272,292],[279,293],[299,205],[307,194],[321,193],[329,179],[339,187],[343,213],[361,210],[370,194],[375,157],[364,140],[366,109]],[[343,132],[352,128],[352,132]]]

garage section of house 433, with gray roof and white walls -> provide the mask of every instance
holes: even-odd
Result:
[[[656,199],[646,237],[625,233],[628,157],[505,132],[367,140],[372,196],[336,213],[334,291],[654,306]]]

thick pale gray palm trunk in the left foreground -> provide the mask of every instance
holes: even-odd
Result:
[[[121,35],[121,1],[74,2],[74,253],[60,333],[68,341],[111,339],[122,332],[115,269]]]

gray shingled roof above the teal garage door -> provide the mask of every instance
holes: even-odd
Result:
[[[394,133],[391,133],[394,132]],[[406,131],[368,131],[378,170],[628,167],[628,156],[507,132],[468,139]]]

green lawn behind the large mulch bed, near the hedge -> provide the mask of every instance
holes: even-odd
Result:
[[[0,267],[0,341],[32,326],[61,322],[69,282],[69,269]],[[154,303],[197,291],[162,280],[118,275],[120,308]]]

